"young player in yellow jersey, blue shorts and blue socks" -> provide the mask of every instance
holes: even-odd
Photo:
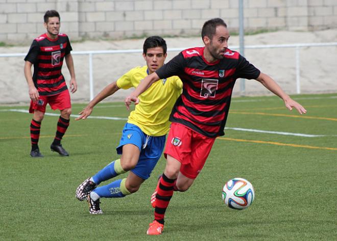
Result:
[[[76,120],[86,119],[93,107],[119,89],[136,88],[147,75],[159,69],[165,61],[166,42],[158,36],[149,37],[143,45],[146,66],[136,67],[116,82],[105,87],[80,112]],[[182,92],[179,77],[161,79],[139,96],[140,104],[130,113],[124,126],[122,138],[116,148],[121,158],[114,160],[97,174],[86,179],[76,190],[76,197],[89,203],[91,214],[103,213],[100,198],[121,198],[138,191],[141,183],[150,177],[165,144],[165,135],[170,128],[168,117],[174,103]],[[127,178],[99,186],[105,180],[130,171]]]

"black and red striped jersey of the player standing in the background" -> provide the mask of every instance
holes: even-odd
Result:
[[[56,95],[67,89],[61,69],[64,56],[71,50],[65,34],[59,34],[56,39],[42,34],[33,40],[25,61],[34,64],[33,81],[40,95]]]

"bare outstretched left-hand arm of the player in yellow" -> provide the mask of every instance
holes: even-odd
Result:
[[[77,117],[75,120],[85,120],[88,116],[90,116],[93,107],[104,100],[106,97],[114,94],[117,90],[119,90],[119,87],[117,86],[116,82],[111,83],[110,85],[106,86],[97,96],[95,96],[88,105],[79,113],[79,117]]]

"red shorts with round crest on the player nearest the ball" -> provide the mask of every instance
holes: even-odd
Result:
[[[185,125],[172,123],[168,133],[164,156],[171,155],[181,163],[180,172],[196,179],[205,165],[215,138],[209,138]]]

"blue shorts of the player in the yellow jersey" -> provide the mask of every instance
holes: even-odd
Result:
[[[140,150],[138,163],[131,172],[142,179],[148,179],[163,152],[165,136],[148,136],[138,126],[126,123],[116,148],[117,154],[123,153],[123,146],[126,144],[133,144]]]

